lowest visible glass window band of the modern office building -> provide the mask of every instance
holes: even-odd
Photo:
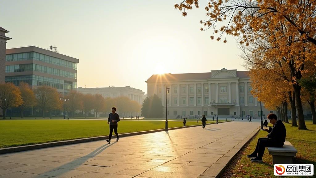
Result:
[[[32,86],[51,86],[57,89],[71,90],[76,88],[76,82],[69,82],[60,79],[53,79],[38,75],[21,75],[21,76],[6,76],[5,82],[12,82],[14,85],[19,85],[20,82],[26,82]]]

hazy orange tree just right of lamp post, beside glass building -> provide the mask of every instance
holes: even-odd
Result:
[[[67,109],[70,111],[71,116],[75,116],[75,111],[82,108],[83,103],[83,94],[77,92],[76,90],[71,90],[65,98],[69,99],[66,102]]]

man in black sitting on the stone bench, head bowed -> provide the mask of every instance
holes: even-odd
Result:
[[[248,158],[253,158],[250,161],[262,162],[262,156],[265,147],[283,147],[285,142],[286,130],[282,121],[277,120],[276,115],[273,113],[270,113],[267,118],[270,120],[270,123],[273,124],[273,127],[270,127],[269,130],[264,129],[265,131],[269,132],[269,134],[265,138],[258,139],[254,152],[250,155],[247,155]]]

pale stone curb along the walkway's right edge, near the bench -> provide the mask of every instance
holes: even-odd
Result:
[[[222,158],[217,160],[210,168],[204,171],[199,178],[219,178],[227,168],[228,164],[232,161],[232,159],[239,153],[239,151],[248,143],[252,137],[254,137],[258,130],[253,131],[248,137],[246,137],[244,140],[242,140],[240,143],[238,143],[236,146],[234,146],[233,149],[228,151]]]

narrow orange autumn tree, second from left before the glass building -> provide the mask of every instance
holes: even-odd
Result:
[[[33,90],[25,82],[20,82],[19,89],[21,92],[21,97],[23,103],[20,105],[21,108],[21,118],[23,118],[23,113],[25,108],[29,108],[36,105],[36,99]]]

